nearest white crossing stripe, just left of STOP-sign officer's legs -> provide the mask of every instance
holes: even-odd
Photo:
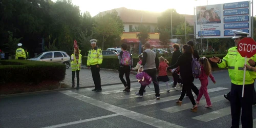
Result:
[[[206,113],[200,116],[193,117],[192,119],[208,122],[214,119],[218,119],[220,117],[231,114],[230,106],[224,109],[220,109],[214,112]]]

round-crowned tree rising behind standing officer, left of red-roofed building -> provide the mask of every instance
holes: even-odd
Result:
[[[105,15],[98,15],[95,17],[95,27],[93,28],[94,33],[102,37],[102,50],[104,48],[105,38],[110,36],[119,36],[122,34],[123,25],[120,22],[120,17],[117,15],[116,10],[112,13]]]

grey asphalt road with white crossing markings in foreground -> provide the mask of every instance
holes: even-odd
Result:
[[[2,97],[0,127],[230,127],[230,103],[223,97],[230,90],[230,79],[227,71],[213,75],[217,83],[209,79],[208,85],[213,106],[206,109],[203,96],[196,113],[190,112],[188,97],[177,106],[180,91],[172,88],[167,93],[164,83],[160,83],[160,100],[153,84],[143,97],[137,97],[140,86],[136,82],[131,92],[122,92],[123,85],[117,84],[102,87],[100,93],[87,88]],[[194,83],[200,88],[198,79]],[[253,114],[254,127],[255,118]]]

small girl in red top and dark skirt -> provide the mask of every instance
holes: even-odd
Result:
[[[159,57],[159,61],[160,61],[160,63],[159,63],[159,67],[158,67],[159,73],[158,73],[157,81],[165,82],[167,92],[169,92],[170,89],[169,89],[168,81],[170,79],[167,76],[167,72],[166,72],[166,68],[169,67],[167,64],[168,61],[166,59],[164,59],[162,56]]]

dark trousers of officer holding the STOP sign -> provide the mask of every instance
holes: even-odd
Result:
[[[243,86],[231,83],[230,106],[232,116],[231,128],[238,128],[242,108],[242,127],[252,128],[252,101],[254,83],[245,84],[244,97],[242,98]]]

